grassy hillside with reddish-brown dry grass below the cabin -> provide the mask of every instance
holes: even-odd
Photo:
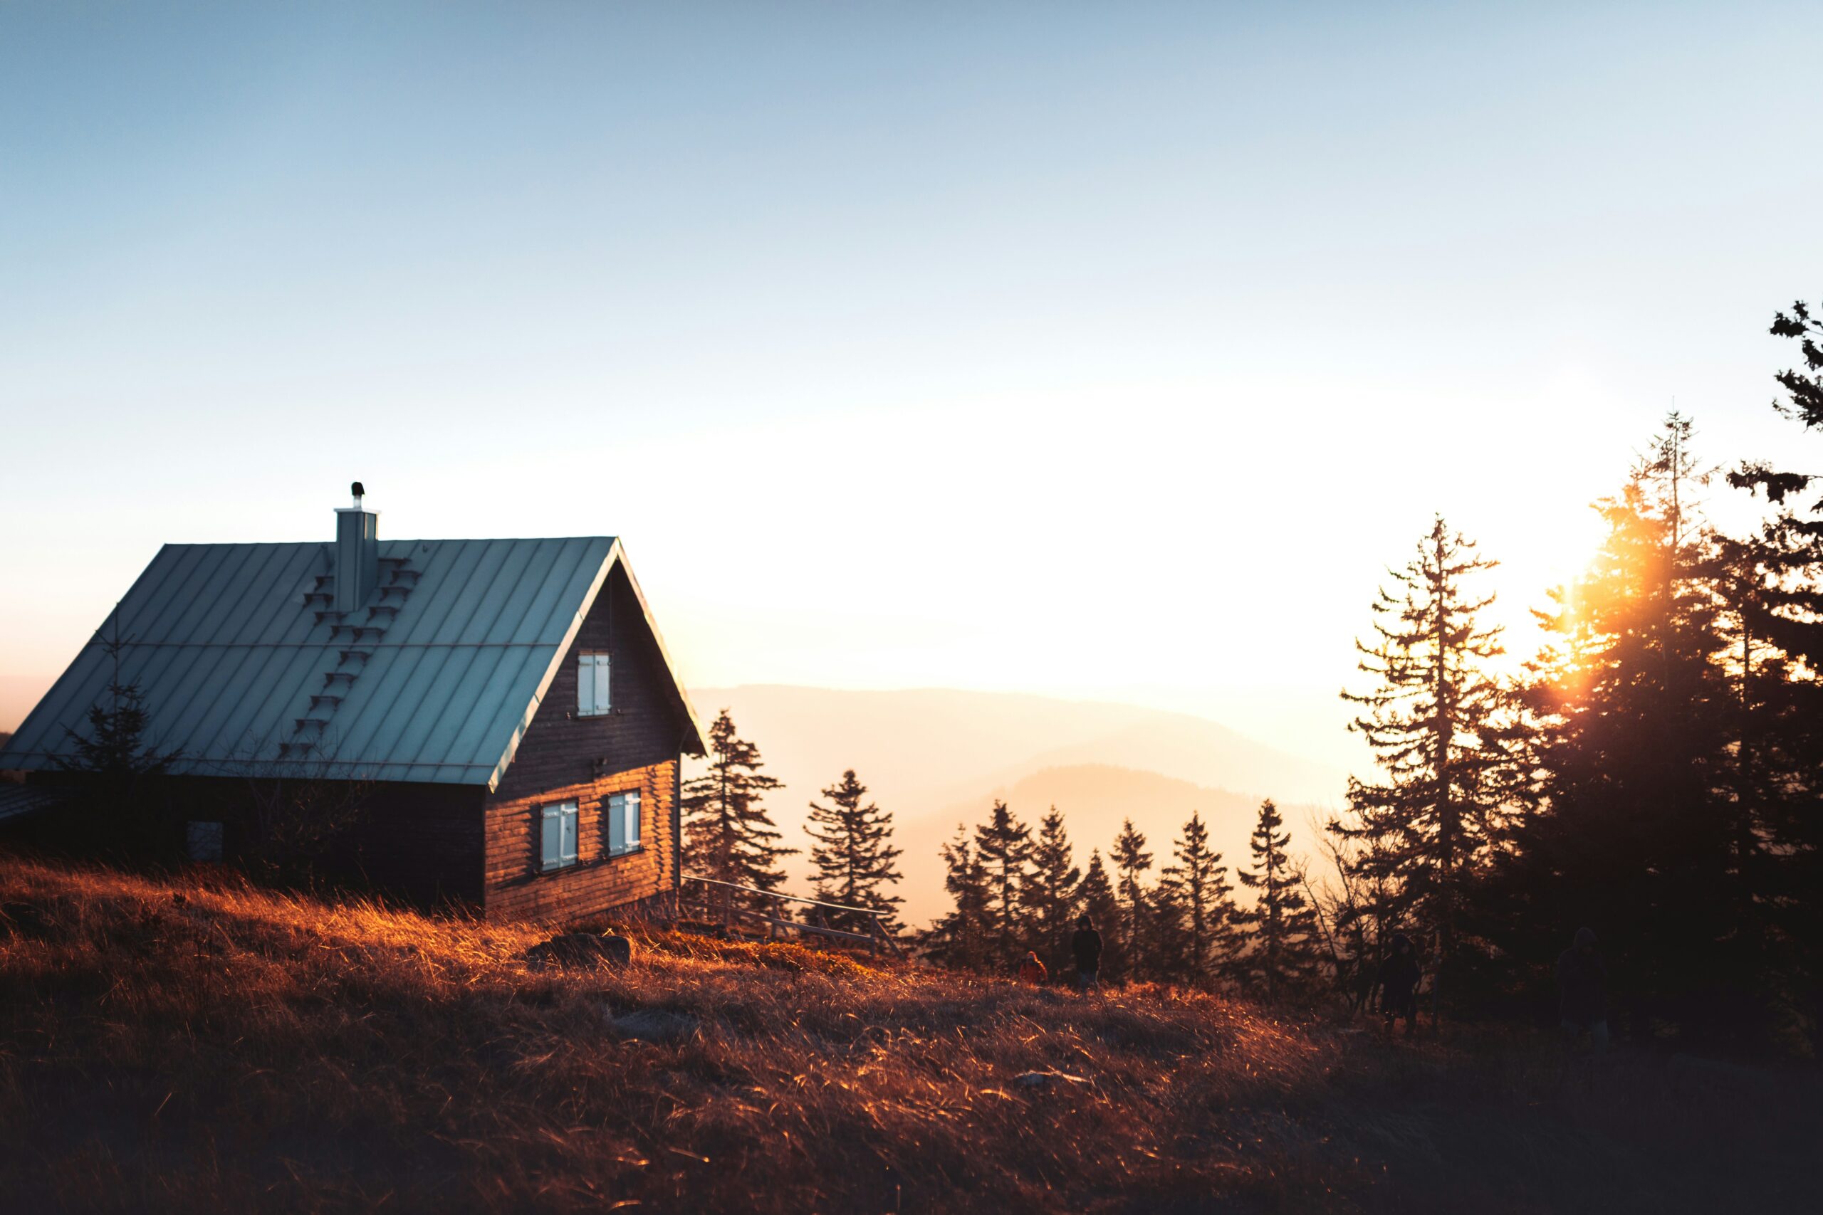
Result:
[[[0,856],[0,1210],[1792,1211],[1814,1080]],[[1066,1073],[1028,1084],[1025,1073]]]

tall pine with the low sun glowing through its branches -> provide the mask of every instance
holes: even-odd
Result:
[[[1550,956],[1593,927],[1624,951],[1635,1027],[1657,1018],[1715,1040],[1754,1022],[1765,1033],[1777,960],[1756,931],[1726,561],[1692,506],[1690,435],[1672,414],[1622,494],[1597,503],[1608,536],[1544,614],[1560,641],[1528,692],[1537,805],[1493,889],[1517,911],[1497,927],[1508,953]]]

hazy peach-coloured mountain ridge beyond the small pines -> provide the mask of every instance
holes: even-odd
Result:
[[[706,718],[729,709],[766,771],[784,781],[767,807],[789,845],[806,847],[809,801],[855,769],[893,812],[895,843],[906,849],[899,893],[912,924],[944,905],[937,847],[959,820],[979,822],[995,796],[1034,823],[1056,803],[1083,863],[1092,847],[1107,851],[1125,816],[1150,838],[1156,863],[1169,863],[1170,838],[1192,809],[1229,851],[1245,845],[1260,798],[1274,798],[1302,825],[1298,807],[1336,803],[1345,787],[1340,769],[1205,718],[1138,705],[791,685],[693,689],[691,699]],[[793,887],[804,885],[806,856],[788,858],[786,871]]]

